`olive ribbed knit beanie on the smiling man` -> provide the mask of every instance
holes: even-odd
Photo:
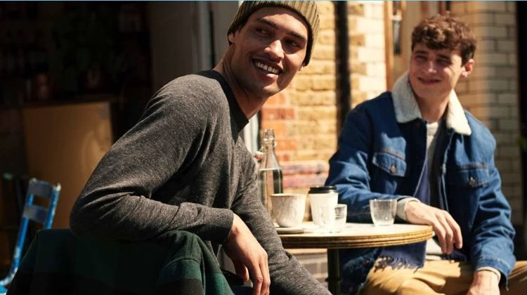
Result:
[[[304,59],[304,64],[307,65],[311,58],[311,51],[313,51],[313,40],[317,37],[318,25],[320,25],[317,4],[315,4],[315,1],[243,1],[242,5],[238,7],[233,22],[230,23],[227,34],[238,31],[238,29],[247,22],[247,18],[249,18],[249,15],[252,15],[254,11],[269,6],[280,6],[291,9],[301,15],[308,24],[308,44],[306,48],[306,58]]]

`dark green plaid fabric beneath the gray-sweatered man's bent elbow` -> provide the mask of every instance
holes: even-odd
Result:
[[[41,230],[8,295],[232,294],[214,255],[197,235],[167,232],[141,242]]]

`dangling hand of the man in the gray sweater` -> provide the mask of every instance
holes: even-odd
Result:
[[[240,216],[234,214],[233,228],[223,244],[227,256],[232,259],[236,274],[246,282],[249,275],[253,283],[254,295],[269,294],[271,277],[267,264],[267,253],[252,235]]]

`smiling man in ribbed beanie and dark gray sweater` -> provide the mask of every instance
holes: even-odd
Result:
[[[213,70],[170,81],[110,148],[70,215],[75,235],[148,240],[191,232],[222,246],[252,294],[329,294],[283,248],[240,131],[308,65],[313,1],[245,1]]]

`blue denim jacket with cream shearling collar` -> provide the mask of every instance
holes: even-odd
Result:
[[[494,166],[490,131],[462,109],[455,92],[445,112],[446,146],[437,147],[439,198],[460,225],[462,252],[474,270],[492,267],[507,284],[516,258],[510,206]],[[346,116],[326,183],[336,185],[349,222],[371,223],[370,199],[413,196],[426,160],[427,122],[403,75],[393,93],[361,103]],[[342,290],[358,293],[382,249],[340,251]],[[424,261],[424,256],[420,257]]]

